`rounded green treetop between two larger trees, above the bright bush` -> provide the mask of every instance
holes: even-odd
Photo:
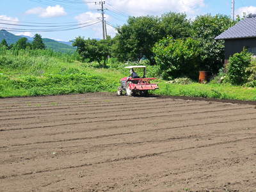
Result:
[[[162,36],[173,36],[173,38],[184,38],[191,35],[191,22],[185,13],[165,13],[161,17]]]

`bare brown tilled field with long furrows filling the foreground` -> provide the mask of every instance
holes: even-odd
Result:
[[[0,191],[256,191],[255,104],[0,99]]]

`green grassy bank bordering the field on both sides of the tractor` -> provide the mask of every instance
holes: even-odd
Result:
[[[90,67],[76,54],[0,49],[0,97],[116,92],[124,70]],[[150,73],[149,73],[150,74]],[[169,84],[159,81],[159,95],[256,100],[256,88],[228,84]]]

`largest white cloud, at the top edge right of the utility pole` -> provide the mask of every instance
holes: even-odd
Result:
[[[197,15],[198,10],[205,6],[204,0],[109,0],[106,4],[111,9],[111,4],[117,10],[129,15],[162,15],[166,12],[182,12],[189,16]],[[99,5],[88,4],[89,8],[99,8]]]

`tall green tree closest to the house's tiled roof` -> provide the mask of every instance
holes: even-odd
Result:
[[[209,70],[214,74],[223,67],[225,46],[223,40],[215,40],[216,36],[226,31],[236,22],[227,15],[201,15],[192,23],[192,37],[201,42],[202,62],[200,70]]]

